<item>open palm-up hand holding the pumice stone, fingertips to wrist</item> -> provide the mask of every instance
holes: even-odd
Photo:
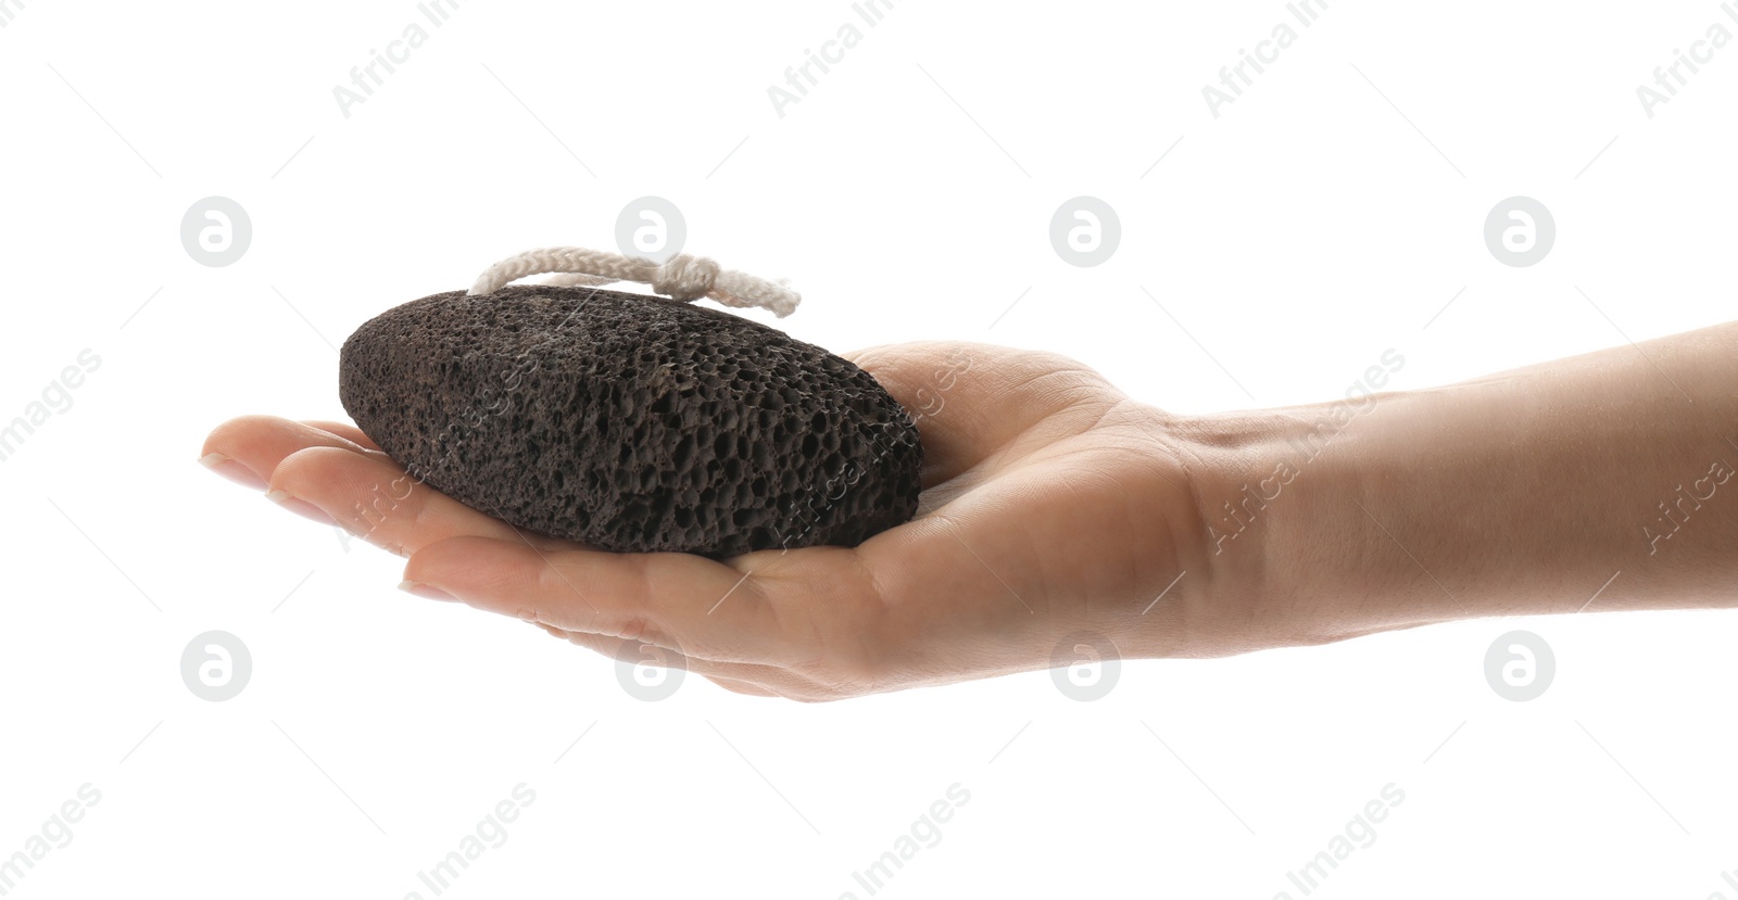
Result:
[[[1048,353],[921,342],[850,358],[925,447],[918,516],[859,547],[594,551],[415,483],[335,422],[235,419],[205,462],[408,556],[415,594],[607,655],[653,645],[739,693],[833,700],[1048,669],[1076,632],[1121,657],[1197,655],[1180,622],[1206,573],[1180,579],[1178,561],[1203,556],[1204,528],[1175,419]]]

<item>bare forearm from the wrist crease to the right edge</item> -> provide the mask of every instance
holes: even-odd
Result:
[[[1738,605],[1738,323],[1194,433],[1201,615],[1257,645]]]

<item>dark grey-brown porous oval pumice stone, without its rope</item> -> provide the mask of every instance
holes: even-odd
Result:
[[[429,486],[600,549],[857,546],[918,509],[918,429],[867,372],[662,297],[434,294],[344,342],[339,396]]]

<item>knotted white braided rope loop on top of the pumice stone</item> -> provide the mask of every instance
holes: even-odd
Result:
[[[756,306],[770,309],[779,318],[789,316],[796,311],[796,304],[803,302],[803,295],[784,287],[782,280],[772,283],[747,273],[725,269],[702,255],[676,254],[664,264],[657,264],[650,259],[633,259],[584,247],[546,247],[502,259],[476,278],[469,294],[473,297],[494,294],[520,278],[546,273],[556,273],[549,283],[560,287],[638,281],[652,285],[652,290],[673,301],[692,302],[711,297],[739,309]]]

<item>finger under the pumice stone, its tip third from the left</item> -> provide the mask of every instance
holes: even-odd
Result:
[[[480,610],[707,660],[777,662],[784,650],[760,587],[704,556],[546,553],[523,540],[455,537],[412,553],[405,579]]]

